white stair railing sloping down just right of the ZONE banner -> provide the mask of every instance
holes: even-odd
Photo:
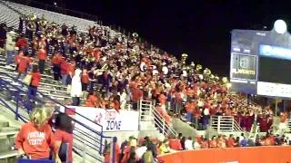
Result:
[[[166,122],[166,119],[155,109],[152,101],[139,101],[139,120],[153,122],[157,129],[164,135],[176,136],[176,130]]]

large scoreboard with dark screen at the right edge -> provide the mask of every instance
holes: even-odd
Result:
[[[233,90],[291,98],[290,34],[233,30],[230,58]]]

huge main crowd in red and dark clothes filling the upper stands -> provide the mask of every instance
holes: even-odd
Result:
[[[120,110],[131,102],[136,110],[139,100],[147,100],[156,103],[168,122],[173,109],[177,115],[185,113],[196,128],[200,123],[206,129],[212,115],[236,116],[246,130],[255,119],[262,130],[271,124],[271,110],[249,104],[245,95],[231,93],[226,82],[201,65],[186,65],[185,60],[138,43],[136,34],[126,38],[100,26],[77,32],[75,26],[47,23],[44,17],[34,16],[20,17],[21,36],[16,42],[11,38],[14,32],[1,31],[8,67],[15,58],[21,79],[32,70],[30,99],[35,98],[40,74],[52,69],[54,80],[67,86],[76,106]],[[47,66],[50,63],[52,67]],[[86,100],[81,102],[81,98]]]

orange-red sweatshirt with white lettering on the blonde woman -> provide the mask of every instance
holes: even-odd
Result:
[[[15,139],[15,146],[33,159],[49,158],[50,148],[55,153],[57,151],[55,137],[48,124],[41,130],[36,129],[31,122],[23,124]]]

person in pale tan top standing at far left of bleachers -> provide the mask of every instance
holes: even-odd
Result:
[[[6,37],[7,37],[6,47],[5,47],[6,53],[7,53],[6,67],[12,68],[11,64],[14,62],[14,58],[15,58],[15,41],[14,41],[15,32],[10,31]]]

